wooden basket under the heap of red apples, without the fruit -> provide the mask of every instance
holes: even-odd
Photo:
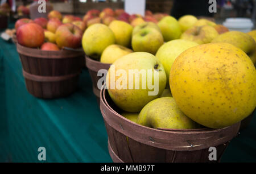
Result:
[[[38,98],[59,98],[75,92],[83,52],[42,51],[19,43],[16,46],[29,93]]]

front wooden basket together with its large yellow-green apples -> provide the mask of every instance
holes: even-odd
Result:
[[[156,57],[134,52],[110,66],[100,107],[113,161],[220,161],[256,106],[250,57],[229,43],[187,40],[164,44]]]

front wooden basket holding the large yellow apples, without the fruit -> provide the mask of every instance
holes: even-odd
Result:
[[[106,89],[100,102],[114,162],[218,162],[240,128],[238,122],[223,129],[151,129],[118,114]],[[216,161],[209,160],[209,147],[216,147]]]

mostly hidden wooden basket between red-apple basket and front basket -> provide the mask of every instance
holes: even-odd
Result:
[[[93,82],[93,93],[97,98],[98,105],[100,105],[101,90],[98,89],[97,83],[98,83],[98,80],[100,80],[101,76],[97,76],[97,74],[100,69],[108,70],[111,64],[101,63],[100,61],[90,59],[90,57],[88,56],[85,56],[85,60],[86,60],[86,67],[89,70],[90,78],[92,78],[92,82]]]

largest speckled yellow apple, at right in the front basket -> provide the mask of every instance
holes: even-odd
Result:
[[[172,96],[185,115],[222,128],[240,122],[256,106],[256,70],[240,48],[210,43],[187,49],[172,65]]]

